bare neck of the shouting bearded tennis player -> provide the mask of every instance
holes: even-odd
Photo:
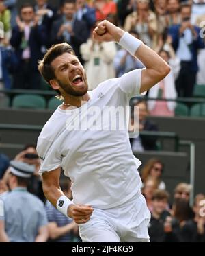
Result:
[[[83,104],[88,102],[88,100],[90,99],[90,96],[88,95],[88,93],[80,97],[76,97],[72,95],[63,95],[63,97],[64,97],[64,103],[66,105],[69,104],[70,106],[76,106],[77,108],[80,108]],[[61,108],[62,109],[68,108],[68,106],[66,105],[63,104]]]

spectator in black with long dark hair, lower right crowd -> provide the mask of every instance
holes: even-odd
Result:
[[[196,242],[197,226],[191,220],[189,202],[178,198],[172,207],[172,218],[165,220],[165,242]]]

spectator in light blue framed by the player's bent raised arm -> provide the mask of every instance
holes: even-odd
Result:
[[[130,34],[136,38],[139,38],[139,35],[135,31],[131,31]],[[141,61],[138,60],[135,56],[129,54],[126,49],[119,49],[117,51],[113,63],[118,77],[134,69],[141,69],[144,67]]]

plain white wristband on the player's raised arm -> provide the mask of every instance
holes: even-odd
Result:
[[[135,52],[143,42],[135,36],[132,36],[128,32],[125,32],[122,38],[120,38],[119,45],[126,49],[131,55],[135,55]]]

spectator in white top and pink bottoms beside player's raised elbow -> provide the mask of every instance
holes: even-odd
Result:
[[[172,47],[172,46],[171,46]],[[150,98],[161,98],[161,99],[172,99],[176,100],[177,93],[175,89],[175,78],[174,71],[180,69],[180,60],[175,57],[174,50],[172,49],[173,57],[171,58],[168,51],[159,51],[159,56],[165,60],[165,62],[170,62],[171,71],[170,73],[161,80],[158,84],[153,86],[149,92],[148,97]],[[170,60],[170,61],[169,61]],[[172,69],[172,64],[174,68]],[[178,65],[178,67],[177,67]],[[163,101],[163,100],[148,100],[148,110],[150,115],[163,116],[163,117],[174,117],[174,109],[176,108],[176,102],[174,101]]]

